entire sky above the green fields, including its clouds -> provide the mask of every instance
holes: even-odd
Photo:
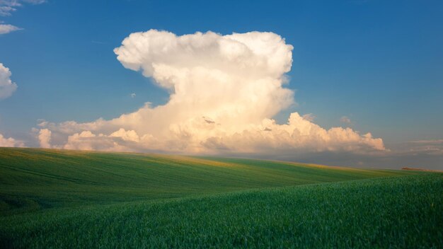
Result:
[[[0,146],[443,169],[442,1],[0,0]]]

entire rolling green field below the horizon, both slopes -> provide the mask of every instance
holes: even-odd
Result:
[[[0,148],[5,248],[443,248],[443,174]]]

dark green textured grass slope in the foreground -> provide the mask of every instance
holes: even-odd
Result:
[[[443,175],[246,190],[0,217],[25,248],[443,248]]]

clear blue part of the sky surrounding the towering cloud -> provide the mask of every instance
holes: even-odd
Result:
[[[152,28],[284,37],[294,47],[285,87],[297,105],[275,115],[279,123],[312,113],[321,127],[371,132],[386,146],[443,139],[442,1],[48,0],[0,21],[21,28],[0,35],[0,62],[18,85],[0,100],[0,133],[31,145],[40,119],[109,120],[167,103],[168,91],[113,52]]]

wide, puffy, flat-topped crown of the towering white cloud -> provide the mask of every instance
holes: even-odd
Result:
[[[127,69],[142,70],[160,86],[174,88],[183,70],[213,69],[222,74],[278,78],[291,69],[292,46],[275,33],[219,35],[195,33],[177,36],[149,30],[132,33],[114,50]],[[182,70],[180,72],[180,70]]]

